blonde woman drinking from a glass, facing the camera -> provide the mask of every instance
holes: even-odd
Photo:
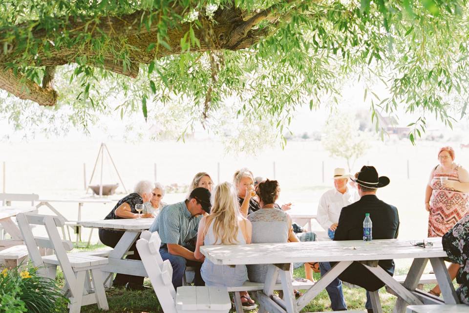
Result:
[[[259,210],[259,203],[254,198],[256,193],[254,189],[253,172],[247,168],[236,171],[233,177],[233,183],[236,187],[240,211],[243,216],[246,217],[248,214]]]

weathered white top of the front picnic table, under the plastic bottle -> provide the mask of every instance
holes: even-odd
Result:
[[[413,246],[413,240],[385,239],[202,246],[200,250],[214,264],[277,264],[292,262],[340,262],[446,257],[441,238],[425,238],[433,246]]]

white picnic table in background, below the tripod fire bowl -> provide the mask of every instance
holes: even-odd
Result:
[[[78,216],[77,216],[77,222],[80,222],[82,220],[82,207],[85,203],[102,203],[102,204],[107,204],[107,203],[117,203],[117,201],[119,200],[115,200],[115,199],[93,199],[93,198],[79,198],[79,199],[39,199],[38,200],[39,203],[36,205],[37,208],[40,208],[41,206],[45,205],[47,206],[52,212],[54,212],[55,214],[57,214],[58,216],[64,218],[65,222],[71,222],[69,221],[62,213],[60,210],[58,210],[57,208],[55,208],[51,202],[57,202],[57,203],[77,203],[78,204]],[[107,214],[107,213],[106,213]],[[73,221],[75,222],[75,221]],[[66,223],[67,224],[67,223]],[[69,227],[72,227],[71,225],[68,224]],[[80,225],[73,225],[73,227],[76,227],[75,228],[75,232],[77,234],[77,237],[76,237],[76,243],[78,244],[79,241],[82,240],[82,232],[81,232],[81,226]],[[71,237],[70,237],[70,232],[68,231],[68,228],[67,228],[67,232],[68,232],[68,238],[69,240],[71,241]],[[91,233],[89,235],[89,239],[88,239],[88,245],[89,245],[89,241],[91,240]]]

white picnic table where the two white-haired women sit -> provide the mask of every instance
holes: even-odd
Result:
[[[140,233],[143,230],[149,229],[153,221],[154,218],[78,222],[78,224],[83,227],[106,228],[124,231],[124,235],[108,255],[109,263],[107,266],[102,268],[102,271],[107,273],[107,278],[105,281],[110,278],[112,273],[148,277],[147,271],[145,270],[142,261],[127,260],[123,258],[128,252],[128,249],[139,238]]]

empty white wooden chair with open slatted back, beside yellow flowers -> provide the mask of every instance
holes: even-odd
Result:
[[[101,271],[101,268],[108,263],[107,258],[84,253],[67,254],[66,251],[71,250],[73,244],[70,241],[61,240],[57,231],[57,227],[64,225],[63,218],[20,213],[16,219],[29,257],[34,266],[39,268],[40,275],[55,280],[57,266],[62,268],[65,279],[63,292],[70,300],[70,313],[80,313],[82,306],[94,303],[97,303],[102,310],[109,309]],[[45,226],[48,237],[34,237],[31,224]],[[39,247],[52,248],[55,254],[41,256]]]

